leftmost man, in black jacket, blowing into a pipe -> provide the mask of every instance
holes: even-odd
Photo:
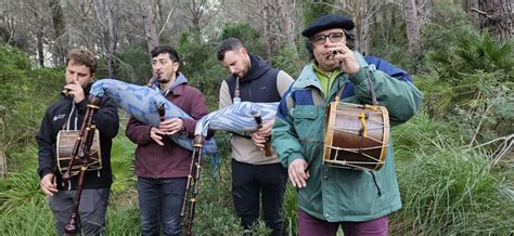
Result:
[[[62,182],[56,170],[56,139],[64,130],[79,130],[87,110],[87,97],[97,70],[94,55],[85,49],[73,49],[66,57],[65,86],[67,95],[53,102],[47,109],[36,134],[39,145],[38,173],[41,191],[48,195],[50,209],[55,217],[57,235],[64,234],[68,223],[77,188],[77,176]],[[60,88],[61,89],[61,88]],[[105,212],[113,175],[111,172],[112,139],[118,133],[119,119],[116,104],[103,97],[94,118],[100,131],[102,169],[87,171],[78,208],[82,233],[100,234],[105,226]],[[73,143],[72,143],[73,145]]]

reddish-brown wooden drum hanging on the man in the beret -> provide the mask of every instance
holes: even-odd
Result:
[[[323,165],[382,168],[389,145],[389,113],[385,107],[332,102],[325,127]]]

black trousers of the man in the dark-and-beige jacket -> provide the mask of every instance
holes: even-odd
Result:
[[[287,174],[280,163],[248,165],[232,159],[232,197],[245,228],[259,217],[259,201],[266,225],[272,235],[282,234],[283,200]]]

